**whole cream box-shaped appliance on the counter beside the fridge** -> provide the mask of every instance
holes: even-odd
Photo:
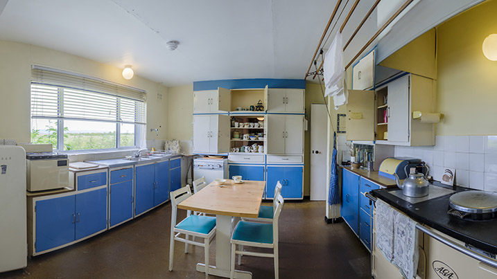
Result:
[[[25,147],[26,146],[26,147]],[[26,152],[26,190],[30,192],[69,186],[67,154],[52,151],[52,145],[21,145]]]

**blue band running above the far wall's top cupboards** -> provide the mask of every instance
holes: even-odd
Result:
[[[205,80],[193,82],[193,91],[215,90],[218,87],[225,89],[264,88],[295,88],[306,89],[305,80],[290,80],[276,78],[245,78],[241,80]]]

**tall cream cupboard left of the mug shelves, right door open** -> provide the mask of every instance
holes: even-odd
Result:
[[[193,152],[222,154],[229,152],[229,116],[193,116]]]

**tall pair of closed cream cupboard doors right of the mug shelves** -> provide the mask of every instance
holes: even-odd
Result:
[[[268,154],[304,153],[304,116],[268,115]]]

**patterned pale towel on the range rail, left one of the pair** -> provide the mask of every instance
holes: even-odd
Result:
[[[394,208],[378,199],[376,201],[376,246],[385,258],[392,262],[394,258]]]

